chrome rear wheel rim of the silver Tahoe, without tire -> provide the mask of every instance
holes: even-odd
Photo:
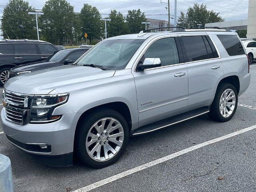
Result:
[[[220,114],[229,117],[236,106],[236,95],[232,89],[226,89],[220,97]]]

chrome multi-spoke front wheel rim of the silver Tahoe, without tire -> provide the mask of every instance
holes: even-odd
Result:
[[[86,151],[96,161],[107,161],[120,150],[124,141],[124,129],[114,118],[98,120],[86,136]]]

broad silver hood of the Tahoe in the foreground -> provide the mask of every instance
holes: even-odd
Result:
[[[10,78],[4,88],[23,94],[49,94],[56,88],[69,88],[83,82],[102,80],[114,75],[113,70],[101,70],[88,66],[66,65]],[[74,88],[74,87],[73,87]]]

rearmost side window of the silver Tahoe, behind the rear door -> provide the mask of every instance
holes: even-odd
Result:
[[[217,35],[229,56],[245,54],[244,48],[236,35]]]

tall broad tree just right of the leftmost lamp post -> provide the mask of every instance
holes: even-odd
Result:
[[[76,16],[74,7],[66,0],[48,0],[42,8],[40,28],[44,40],[53,44],[62,44],[62,39],[73,39]]]

